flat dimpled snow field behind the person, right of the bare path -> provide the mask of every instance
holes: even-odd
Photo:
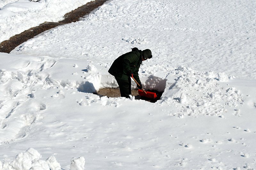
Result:
[[[236,0],[111,1],[84,21],[54,28],[13,53],[84,58],[109,66],[136,46],[153,51],[146,73],[184,65],[255,79],[253,7],[253,1]]]

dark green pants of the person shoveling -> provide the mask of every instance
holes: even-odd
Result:
[[[131,78],[125,74],[122,77],[116,77],[117,84],[119,85],[119,90],[121,97],[130,98],[131,94]]]

